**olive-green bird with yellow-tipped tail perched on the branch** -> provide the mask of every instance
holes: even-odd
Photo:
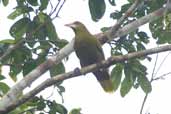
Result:
[[[75,33],[74,49],[80,60],[81,67],[98,63],[105,59],[100,42],[87,30],[80,22],[76,21],[66,24]],[[108,69],[98,69],[93,71],[104,91],[113,92],[113,84],[110,79]]]

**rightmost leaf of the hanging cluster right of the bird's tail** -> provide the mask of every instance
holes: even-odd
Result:
[[[146,76],[138,76],[138,83],[146,94],[152,91],[151,83]]]

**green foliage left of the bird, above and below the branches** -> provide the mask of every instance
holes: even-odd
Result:
[[[2,2],[4,6],[8,4],[8,0],[3,0]],[[3,65],[9,66],[9,76],[15,82],[18,81],[17,76],[19,74],[22,74],[23,77],[26,76],[49,56],[58,54],[58,51],[68,43],[65,39],[58,37],[53,24],[52,18],[54,17],[51,17],[50,13],[45,12],[49,4],[48,0],[17,0],[16,2],[17,6],[8,16],[9,19],[16,20],[9,30],[13,39],[0,41],[1,55],[6,52],[11,44],[15,45],[23,41],[20,48],[14,50],[1,62],[1,68]],[[56,13],[54,9],[52,10]],[[55,76],[64,73],[65,66],[61,62],[49,71],[51,76]],[[0,79],[5,79],[5,76],[0,75]],[[62,82],[54,86],[61,98],[63,98],[62,93],[65,92],[65,88],[61,84]],[[8,84],[0,82],[0,95],[6,94],[9,88]],[[23,104],[23,106],[20,106],[12,113],[19,113],[24,110],[29,112],[30,104],[32,104],[31,108],[34,111],[44,110],[47,107],[50,114],[55,114],[56,112],[67,114],[65,107],[56,103],[56,101],[45,100],[42,97],[36,97],[36,99],[36,101],[31,100],[29,103]]]

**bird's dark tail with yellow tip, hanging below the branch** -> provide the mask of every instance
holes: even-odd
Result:
[[[99,81],[100,85],[102,86],[105,92],[112,93],[114,91],[112,80],[106,69],[102,71],[95,71],[93,72],[93,74],[96,76],[97,80]]]

